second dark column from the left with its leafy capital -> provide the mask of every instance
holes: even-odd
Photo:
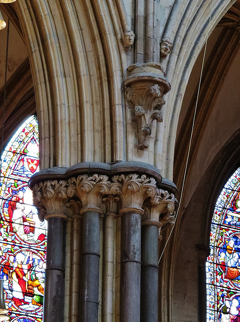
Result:
[[[98,321],[100,214],[102,198],[109,193],[108,177],[81,175],[68,179],[67,195],[77,196],[82,202],[82,283],[81,320]]]

